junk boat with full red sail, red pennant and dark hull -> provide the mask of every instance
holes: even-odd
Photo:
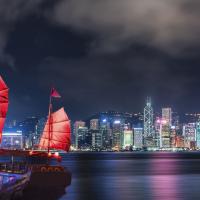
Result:
[[[42,187],[66,187],[71,183],[69,172],[60,164],[61,156],[58,152],[55,152],[68,152],[71,145],[70,120],[64,108],[53,112],[52,98],[60,97],[59,93],[52,88],[49,114],[38,144],[38,150],[29,152],[29,158],[32,161],[30,165],[32,169],[31,187],[38,187],[40,185]],[[38,159],[41,161],[41,164],[38,162]],[[50,164],[52,159],[56,159],[58,164]]]

